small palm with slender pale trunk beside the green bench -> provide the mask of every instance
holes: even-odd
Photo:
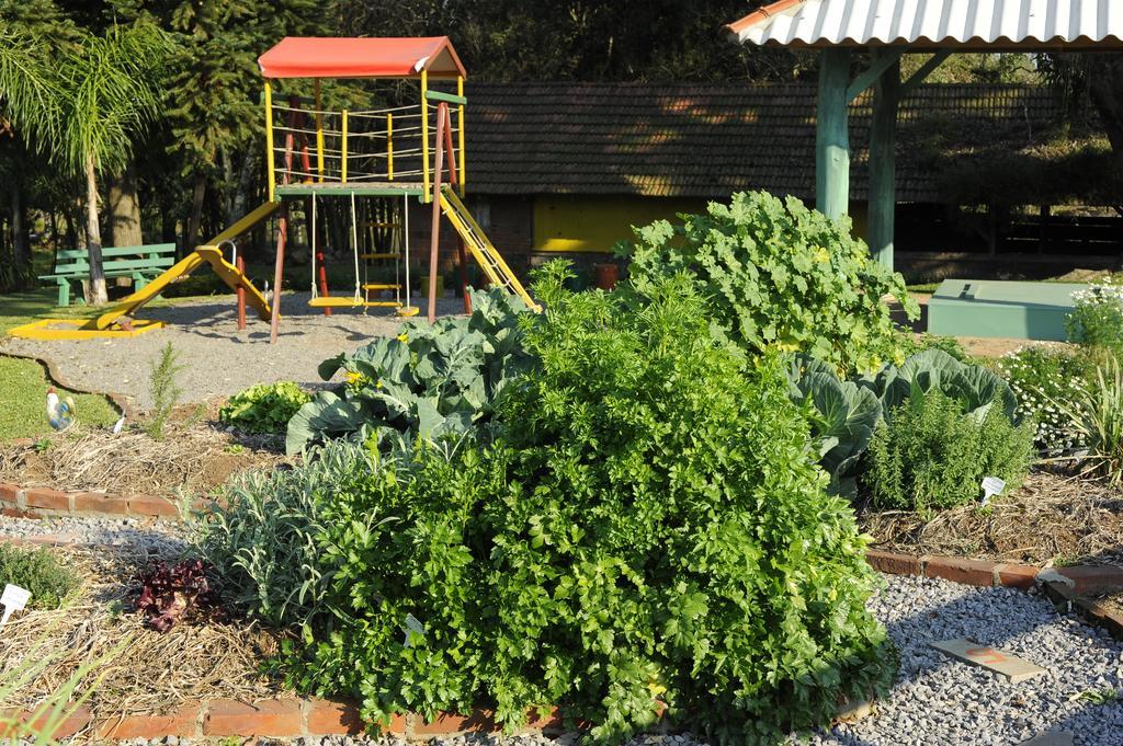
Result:
[[[67,168],[85,176],[90,304],[109,300],[101,263],[98,176],[116,176],[128,166],[135,138],[159,112],[168,47],[168,38],[152,24],[113,25],[104,36],[86,36],[61,61],[65,99],[56,153]]]

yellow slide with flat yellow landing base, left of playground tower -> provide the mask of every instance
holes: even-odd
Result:
[[[13,337],[24,337],[27,339],[60,340],[90,339],[95,337],[134,337],[145,331],[159,329],[164,325],[163,322],[133,319],[134,312],[164,292],[168,285],[189,276],[204,264],[209,264],[214,274],[229,285],[230,288],[235,291],[239,287],[245,288],[246,303],[257,311],[257,315],[263,321],[268,321],[273,312],[265,296],[262,295],[261,291],[245,275],[238,271],[237,267],[222,258],[220,246],[223,241],[232,240],[256,227],[276,212],[279,206],[281,206],[280,202],[266,202],[261,205],[206,245],[198,247],[143,288],[122,298],[120,303],[104,311],[101,315],[85,321],[85,323],[61,319],[40,319],[30,324],[17,326],[9,333]],[[130,317],[130,323],[127,326],[115,326],[117,321],[122,316]]]

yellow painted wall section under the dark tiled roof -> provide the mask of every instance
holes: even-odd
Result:
[[[632,225],[703,212],[706,201],[677,197],[542,195],[535,199],[535,250],[603,251],[631,240]]]

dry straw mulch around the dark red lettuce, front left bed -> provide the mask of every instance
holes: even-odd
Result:
[[[0,675],[30,654],[49,652],[49,663],[0,709],[30,709],[57,691],[86,663],[103,661],[79,685],[92,685],[86,701],[97,719],[165,715],[209,698],[255,701],[282,693],[261,673],[279,647],[275,635],[246,621],[195,620],[167,633],[148,629],[131,609],[128,579],[143,562],[121,552],[69,550],[85,578],[73,602],[53,611],[21,613],[0,635]],[[172,558],[168,558],[172,559]],[[38,653],[36,653],[36,651]]]

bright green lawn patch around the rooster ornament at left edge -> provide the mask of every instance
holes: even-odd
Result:
[[[39,438],[51,433],[47,422],[47,388],[52,385],[35,360],[0,356],[0,442],[16,438]],[[108,426],[120,414],[109,399],[97,394],[76,394],[61,387],[58,395],[74,397],[79,422]]]

